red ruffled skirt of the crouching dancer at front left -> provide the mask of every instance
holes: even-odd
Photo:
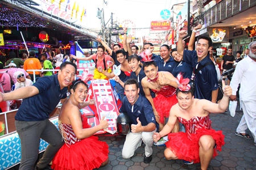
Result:
[[[108,159],[109,146],[91,136],[74,145],[66,145],[57,152],[52,160],[52,168],[58,169],[95,169]]]

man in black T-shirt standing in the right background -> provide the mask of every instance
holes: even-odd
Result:
[[[235,61],[235,57],[232,55],[232,48],[228,49],[228,54],[225,54],[221,61],[221,71],[225,72],[226,70],[233,68],[233,63]],[[223,79],[225,80],[227,77],[223,76]],[[228,85],[230,83],[230,80],[228,80]]]

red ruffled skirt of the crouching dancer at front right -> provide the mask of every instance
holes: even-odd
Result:
[[[187,160],[189,162],[200,163],[199,158],[199,139],[202,135],[211,135],[215,140],[216,147],[214,147],[213,158],[218,155],[217,151],[221,151],[221,147],[225,145],[221,130],[214,129],[197,129],[196,134],[191,134],[191,139],[188,139],[187,133],[170,133],[168,134],[169,141],[166,142],[166,147],[170,148],[178,159]]]

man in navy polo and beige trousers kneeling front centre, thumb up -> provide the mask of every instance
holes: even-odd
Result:
[[[125,97],[119,112],[127,112],[131,119],[131,132],[126,135],[123,145],[122,156],[129,159],[134,155],[135,150],[141,146],[143,141],[145,146],[144,163],[152,160],[152,135],[159,125],[155,121],[155,115],[150,102],[146,97],[139,95],[139,84],[135,79],[128,79],[125,82]]]

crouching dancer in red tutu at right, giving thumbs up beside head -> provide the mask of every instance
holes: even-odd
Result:
[[[215,104],[205,99],[194,99],[189,80],[179,79],[176,90],[177,101],[170,110],[170,117],[163,130],[154,133],[154,142],[168,134],[164,156],[167,160],[183,159],[189,162],[201,163],[201,169],[207,169],[210,160],[221,151],[225,144],[222,131],[212,129],[209,113],[223,113],[229,105],[232,88],[225,86],[222,80],[224,96],[220,103]],[[170,133],[176,121],[185,126],[186,132]]]

